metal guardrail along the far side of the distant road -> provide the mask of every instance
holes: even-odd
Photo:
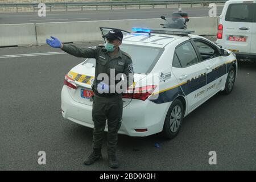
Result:
[[[226,0],[227,1],[227,0]],[[208,3],[225,3],[224,0],[201,0],[201,1],[188,1],[188,0],[179,0],[179,1],[109,1],[109,2],[54,2],[54,3],[45,3],[46,7],[66,7],[66,11],[69,6],[81,6],[81,10],[84,6],[96,6],[96,10],[98,10],[98,6],[111,6],[111,10],[113,6],[129,6],[129,5],[138,5],[139,9],[141,9],[141,5],[151,5],[154,9],[154,5],[182,5],[182,4],[190,4],[191,7],[193,4],[208,4]],[[18,12],[18,7],[33,7],[38,8],[39,3],[0,3],[0,7],[16,7],[16,12]]]

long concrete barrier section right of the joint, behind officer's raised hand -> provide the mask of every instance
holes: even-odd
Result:
[[[165,23],[160,18],[127,19],[127,20],[97,20],[86,22],[54,22],[36,23],[38,45],[46,44],[46,38],[56,36],[62,42],[95,42],[101,41],[99,27],[114,27],[131,31],[132,27],[160,27]],[[217,17],[193,17],[187,23],[189,30],[195,30],[198,35],[216,35]]]

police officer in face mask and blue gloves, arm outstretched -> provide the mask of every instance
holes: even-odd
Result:
[[[90,48],[78,48],[70,44],[65,45],[53,36],[51,36],[52,40],[46,39],[46,42],[49,46],[61,48],[73,56],[96,59],[95,79],[92,84],[94,92],[92,98],[93,151],[85,159],[84,164],[93,164],[102,157],[101,148],[107,120],[109,166],[117,168],[117,132],[121,127],[123,101],[122,93],[120,93],[120,90],[116,90],[115,86],[119,82],[125,81],[125,84],[121,84],[125,85],[123,88],[121,86],[123,91],[127,86],[133,85],[133,63],[131,57],[119,48],[123,39],[123,34],[120,30],[110,30],[108,34],[102,37],[107,40],[105,45]],[[123,74],[125,79],[116,80],[115,78],[119,73]],[[108,76],[109,80],[104,77],[104,74]]]

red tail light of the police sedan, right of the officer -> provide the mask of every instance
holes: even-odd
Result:
[[[153,93],[156,86],[157,85],[147,85],[127,90],[127,93],[123,94],[123,98],[133,98],[144,101]]]

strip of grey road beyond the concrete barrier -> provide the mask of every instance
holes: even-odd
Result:
[[[221,14],[223,6],[217,6],[217,16]],[[191,17],[209,16],[208,7],[183,8]],[[161,15],[171,17],[177,8],[170,9],[133,9],[133,10],[87,10],[47,12],[46,17],[39,17],[38,13],[0,13],[0,24],[15,23],[45,23],[45,22],[73,22],[90,20],[115,20],[115,19],[148,19],[160,18]]]

